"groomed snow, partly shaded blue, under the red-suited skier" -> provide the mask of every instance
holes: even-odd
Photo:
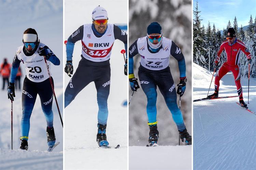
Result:
[[[193,98],[207,96],[212,73],[193,63]],[[248,79],[241,79],[247,103]],[[214,78],[209,94],[214,90]],[[235,96],[237,87],[232,73],[222,78],[219,96]],[[256,111],[256,79],[250,79],[250,104]],[[194,170],[246,169],[256,166],[256,116],[236,102],[239,98],[216,99],[194,103]]]

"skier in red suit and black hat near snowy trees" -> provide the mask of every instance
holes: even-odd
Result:
[[[219,47],[219,51],[214,62],[215,69],[218,67],[219,57],[221,56],[223,50],[226,51],[227,61],[223,63],[221,68],[219,68],[219,70],[217,71],[217,76],[215,77],[214,81],[215,91],[214,94],[208,96],[208,98],[218,97],[219,81],[225,74],[227,74],[228,71],[232,71],[237,86],[239,102],[246,107],[247,104],[245,104],[243,101],[243,90],[240,83],[241,73],[239,67],[239,60],[241,51],[246,55],[248,64],[252,62],[252,55],[245,47],[244,43],[236,38],[236,32],[233,28],[228,29],[227,40],[225,40]]]

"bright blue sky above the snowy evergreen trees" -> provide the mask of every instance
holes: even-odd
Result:
[[[196,6],[196,0],[193,2],[194,9]],[[234,17],[237,17],[238,26],[241,24],[244,26],[248,25],[250,16],[252,15],[253,20],[256,15],[256,0],[198,0],[198,8],[201,11],[202,25],[206,27],[208,21],[213,23],[216,28],[223,30],[226,28],[228,20],[230,20],[233,26]],[[202,26],[201,25],[201,26]]]

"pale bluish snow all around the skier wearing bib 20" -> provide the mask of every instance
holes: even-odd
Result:
[[[60,66],[51,65],[51,72],[61,115],[63,110],[62,6],[62,1],[51,0],[28,0],[26,5],[24,5],[24,1],[0,1],[0,62],[6,57],[8,62],[12,63],[17,47],[22,45],[23,32],[27,28],[34,28],[40,41],[46,44],[60,60]],[[23,73],[22,85],[25,78],[25,67],[22,63],[20,63],[20,67]],[[2,78],[0,78],[0,85],[2,86]],[[53,152],[45,152],[48,148],[46,121],[40,99],[37,97],[30,118],[28,151],[26,152],[18,150],[22,118],[22,91],[15,90],[15,95],[13,102],[14,150],[11,151],[11,101],[7,97],[6,89],[0,91],[0,169],[45,169],[46,166],[48,169],[62,169],[63,129],[55,100],[53,101],[54,130],[56,141],[59,141],[60,144]]]

